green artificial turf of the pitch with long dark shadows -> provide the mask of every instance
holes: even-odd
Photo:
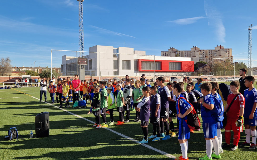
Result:
[[[229,82],[227,82],[229,83]],[[39,98],[39,87],[15,88],[23,93]],[[0,159],[167,159],[156,151],[123,138],[104,128],[95,129],[92,124],[74,115],[44,102],[29,97],[13,89],[0,90]],[[13,98],[24,97],[24,98]],[[7,99],[3,99],[7,98]],[[48,102],[50,100],[47,94]],[[58,106],[58,104],[56,104]],[[67,108],[68,111],[95,121],[92,114],[86,114],[89,106],[84,109]],[[29,138],[29,132],[35,131],[35,115],[47,111],[50,119],[50,136],[46,138]],[[118,120],[115,112],[114,119]],[[135,119],[135,111],[131,111],[131,120]],[[107,121],[109,121],[107,114]],[[173,119],[176,126],[176,119]],[[102,122],[102,118],[101,118]],[[4,139],[10,127],[17,127],[19,141]],[[143,138],[139,123],[129,122],[108,128],[129,136],[137,141]],[[35,133],[34,133],[35,134]],[[149,124],[149,136],[152,125]],[[222,130],[224,140],[224,130]],[[34,135],[35,136],[35,135]],[[232,134],[233,136],[233,134]],[[244,142],[245,134],[241,133],[240,143]],[[231,140],[232,142],[232,140]],[[233,143],[233,142],[232,142]],[[167,152],[173,156],[181,156],[180,145],[176,137],[167,141],[152,142],[148,145]],[[189,139],[189,159],[198,159],[205,155],[203,131],[195,131]],[[222,159],[255,159],[256,150],[240,147],[237,151],[224,150]]]

